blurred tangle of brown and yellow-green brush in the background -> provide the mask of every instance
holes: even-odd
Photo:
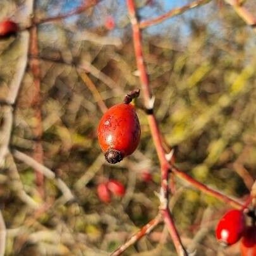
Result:
[[[82,1],[35,0],[35,16],[68,13]],[[85,0],[86,2],[86,0]],[[137,1],[147,20],[191,1]],[[256,3],[246,8],[256,13]],[[27,24],[23,0],[1,0],[0,20]],[[142,97],[138,149],[109,165],[97,142],[102,111],[140,88],[125,1],[105,0],[64,20],[38,26],[40,104],[29,66],[14,112],[11,149],[41,158],[68,185],[66,202],[53,180],[39,193],[35,170],[8,155],[0,173],[0,207],[6,223],[6,255],[107,255],[154,218],[159,162]],[[0,99],[18,70],[20,34],[0,40]],[[155,115],[176,164],[205,185],[246,200],[256,177],[256,34],[231,6],[210,1],[143,30],[143,52],[155,95]],[[103,103],[102,103],[103,102]],[[106,106],[104,105],[106,104]],[[40,113],[40,119],[38,114]],[[0,111],[3,119],[3,111]],[[1,121],[3,125],[3,121]],[[40,140],[35,135],[42,129]],[[0,134],[1,140],[1,134]],[[152,174],[145,180],[144,173]],[[97,185],[109,178],[126,186],[123,198],[104,204]],[[214,229],[229,209],[175,179],[169,207],[181,240],[196,255],[239,255],[239,244],[222,248]],[[34,209],[23,193],[37,202]],[[44,194],[42,197],[42,193]],[[160,224],[123,255],[176,255]]]

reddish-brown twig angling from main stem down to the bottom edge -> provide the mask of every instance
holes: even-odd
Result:
[[[158,214],[154,219],[152,219],[152,221],[143,226],[137,233],[135,233],[125,243],[123,243],[123,245],[121,245],[113,253],[111,253],[111,256],[121,255],[121,253],[125,252],[125,250],[133,245],[133,243],[136,243],[138,240],[140,240],[140,238],[149,234],[152,229],[154,229],[159,224],[161,219],[161,214]]]

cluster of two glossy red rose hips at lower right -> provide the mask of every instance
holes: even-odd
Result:
[[[229,210],[217,224],[216,237],[224,245],[233,245],[241,239],[242,256],[256,255],[256,226],[246,225],[242,210]]]

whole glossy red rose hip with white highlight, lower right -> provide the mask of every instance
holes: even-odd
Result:
[[[240,240],[245,229],[245,217],[241,210],[229,210],[221,218],[216,228],[216,238],[226,245]]]

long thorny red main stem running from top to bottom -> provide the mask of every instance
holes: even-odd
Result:
[[[131,25],[133,30],[133,44],[135,49],[135,57],[137,61],[137,68],[140,72],[140,82],[142,85],[142,95],[145,102],[145,106],[149,111],[152,111],[154,101],[152,101],[152,92],[149,85],[149,76],[147,75],[146,65],[143,59],[142,53],[142,35],[140,33],[140,27],[138,24],[136,16],[136,7],[133,0],[126,0],[128,7],[128,13],[131,19]],[[164,217],[164,222],[168,226],[169,233],[173,239],[174,246],[179,255],[186,255],[186,251],[181,243],[180,236],[174,225],[171,214],[168,210],[168,174],[169,174],[169,164],[166,160],[166,155],[164,148],[162,147],[161,133],[157,125],[157,120],[155,119],[154,114],[148,114],[148,121],[150,126],[151,135],[155,144],[155,149],[161,164],[161,213]]]

